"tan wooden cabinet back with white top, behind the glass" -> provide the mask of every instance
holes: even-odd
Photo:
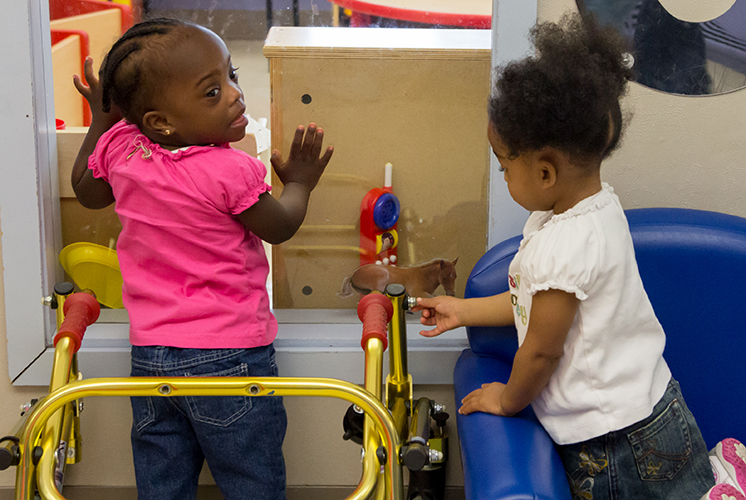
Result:
[[[416,46],[403,46],[406,57],[401,57],[399,48],[381,48],[392,30],[365,30],[366,36],[380,37],[366,51],[362,46],[347,50],[344,44],[346,35],[358,30],[331,29],[339,38],[327,39],[330,46],[319,46],[317,57],[314,47],[279,39],[265,49],[270,57],[272,147],[287,156],[295,128],[310,121],[323,127],[328,144],[335,147],[311,195],[304,225],[289,242],[275,247],[275,307],[356,306],[356,300],[337,292],[359,265],[360,202],[369,189],[383,184],[387,162],[393,164],[393,191],[402,207],[399,265],[459,257],[457,294],[462,295],[468,272],[486,247],[489,45],[466,49],[470,58],[453,57],[438,35],[453,40],[457,30],[430,30],[432,50],[418,55]],[[422,38],[413,40],[422,44]],[[454,43],[454,52],[463,54],[464,46]],[[279,193],[276,179],[275,184]]]

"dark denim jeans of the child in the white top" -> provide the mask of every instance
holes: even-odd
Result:
[[[573,500],[699,500],[715,485],[702,433],[674,379],[648,418],[557,450]]]

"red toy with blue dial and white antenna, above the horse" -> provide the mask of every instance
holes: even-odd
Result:
[[[360,203],[360,265],[395,264],[401,207],[391,186],[392,166],[386,164],[383,187],[368,191]]]

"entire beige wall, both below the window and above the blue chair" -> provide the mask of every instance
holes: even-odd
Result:
[[[539,17],[554,20],[569,0],[540,0]],[[619,151],[603,167],[604,177],[627,208],[671,206],[746,216],[746,91],[713,97],[668,96],[633,85],[625,100],[632,113]],[[2,213],[0,207],[0,229]],[[2,248],[0,248],[0,262]],[[2,280],[2,274],[0,274]],[[0,284],[0,339],[5,339],[4,293]],[[85,367],[82,367],[85,372]],[[453,407],[450,386],[416,388]],[[9,430],[21,403],[43,390],[12,387],[5,342],[0,346],[0,432]],[[290,485],[351,485],[359,477],[359,448],[341,440],[346,404],[286,398],[290,428],[285,446]],[[453,412],[451,412],[453,413]],[[83,462],[69,484],[131,485],[130,410],[126,399],[93,398],[83,413]],[[452,419],[454,420],[454,419]],[[455,422],[449,432],[455,435]],[[457,443],[452,442],[449,484],[462,484]],[[0,472],[0,487],[13,485],[14,470]],[[206,480],[209,480],[206,478]]]

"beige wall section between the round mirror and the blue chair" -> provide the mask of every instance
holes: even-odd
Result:
[[[706,4],[706,2],[702,2]],[[539,0],[556,20],[574,0]],[[621,147],[602,166],[625,208],[682,207],[746,217],[746,90],[685,97],[631,84]]]

